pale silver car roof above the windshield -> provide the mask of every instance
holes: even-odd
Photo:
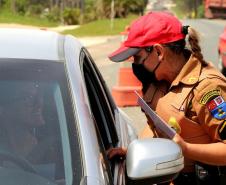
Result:
[[[60,61],[64,38],[47,30],[0,28],[0,58]]]

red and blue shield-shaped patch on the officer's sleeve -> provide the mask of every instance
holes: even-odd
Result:
[[[206,104],[212,116],[216,119],[226,118],[226,102],[222,96],[217,96]]]

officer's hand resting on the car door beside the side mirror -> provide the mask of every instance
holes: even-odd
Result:
[[[113,159],[122,160],[122,159],[125,159],[126,153],[127,153],[126,148],[122,148],[122,147],[110,148],[107,150],[107,157],[110,160],[113,160]]]

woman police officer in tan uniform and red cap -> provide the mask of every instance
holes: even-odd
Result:
[[[109,58],[132,56],[144,99],[177,131],[185,168],[174,184],[226,184],[226,79],[204,60],[197,32],[170,14],[150,12]]]

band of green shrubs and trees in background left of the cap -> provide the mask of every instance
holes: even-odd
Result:
[[[41,18],[65,24],[83,24],[110,18],[112,0],[0,0],[0,14]],[[114,0],[114,18],[126,18],[131,12],[142,14],[147,0]],[[4,17],[6,18],[5,14]],[[21,18],[21,17],[20,17]],[[17,20],[17,19],[16,19]]]

